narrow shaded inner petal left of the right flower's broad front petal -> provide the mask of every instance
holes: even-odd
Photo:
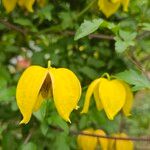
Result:
[[[100,80],[102,80],[102,78]],[[95,87],[94,99],[95,99],[97,110],[99,110],[99,111],[102,110],[103,109],[103,105],[102,105],[100,97],[99,97],[99,84],[97,84],[97,86]]]

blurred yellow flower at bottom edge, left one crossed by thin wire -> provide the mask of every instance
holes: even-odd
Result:
[[[86,134],[96,134],[105,136],[105,132],[103,130],[93,130],[93,129],[86,129],[82,133]],[[79,135],[77,137],[77,143],[81,150],[95,150],[98,144],[100,144],[102,150],[107,150],[108,140],[104,138],[97,138],[94,136],[88,135]]]

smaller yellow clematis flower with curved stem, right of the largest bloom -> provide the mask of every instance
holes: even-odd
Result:
[[[121,109],[125,116],[131,115],[133,94],[129,85],[118,79],[110,80],[108,74],[107,76],[108,79],[101,77],[89,85],[81,113],[88,112],[91,96],[94,95],[97,109],[104,109],[110,120],[113,120]]]

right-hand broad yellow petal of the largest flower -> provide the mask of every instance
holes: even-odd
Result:
[[[81,85],[76,75],[65,68],[50,68],[53,98],[59,115],[70,122],[69,116],[81,96]]]

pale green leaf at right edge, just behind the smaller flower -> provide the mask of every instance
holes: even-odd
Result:
[[[138,73],[135,70],[126,70],[124,72],[116,74],[118,79],[134,85],[133,91],[148,88],[150,89],[150,80],[148,80],[143,74]]]

